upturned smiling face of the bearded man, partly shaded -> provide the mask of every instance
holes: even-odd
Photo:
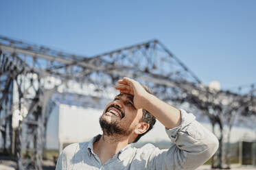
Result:
[[[107,135],[130,135],[143,115],[133,104],[133,96],[120,93],[106,106],[100,117],[102,131]]]

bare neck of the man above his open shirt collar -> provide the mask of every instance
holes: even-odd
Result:
[[[128,136],[106,136],[102,135],[100,140],[93,143],[93,151],[99,156],[102,165],[113,158],[117,152],[126,147],[129,143]]]

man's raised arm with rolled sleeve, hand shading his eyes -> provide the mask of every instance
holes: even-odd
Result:
[[[203,127],[193,114],[178,110],[144,90],[139,82],[124,77],[116,86],[121,93],[134,95],[137,109],[148,110],[166,127],[172,144],[170,149],[146,149],[148,167],[154,169],[196,169],[218,149],[218,139]],[[141,149],[145,152],[145,149]]]

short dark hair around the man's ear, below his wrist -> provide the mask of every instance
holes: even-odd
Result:
[[[150,90],[148,90],[148,88],[146,86],[143,86],[143,88],[150,94],[152,94],[150,92]],[[137,143],[137,141],[139,141],[139,139],[141,138],[141,136],[143,136],[144,134],[148,133],[150,130],[152,130],[154,123],[156,123],[156,118],[153,116],[153,114],[151,114],[150,112],[148,112],[147,110],[143,109],[143,115],[141,117],[140,122],[145,122],[148,123],[150,125],[150,127],[148,128],[148,130],[146,132],[144,132],[143,134],[139,134],[137,136],[137,138],[135,138],[135,141],[133,141],[132,143]]]

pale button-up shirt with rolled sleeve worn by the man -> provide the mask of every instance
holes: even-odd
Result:
[[[218,149],[218,139],[196,121],[193,114],[181,110],[181,125],[165,129],[172,141],[169,149],[159,149],[152,144],[141,148],[127,145],[102,165],[93,151],[91,141],[73,143],[61,152],[56,170],[65,169],[196,169]]]

